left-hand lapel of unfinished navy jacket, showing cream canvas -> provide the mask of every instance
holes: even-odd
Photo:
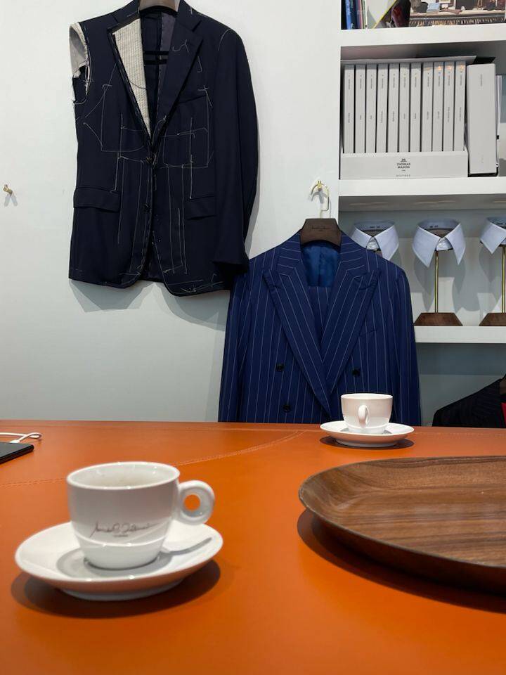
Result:
[[[114,14],[117,24],[110,27],[109,39],[126,91],[134,105],[136,115],[150,137],[148,92],[146,90],[141,19],[138,0]]]

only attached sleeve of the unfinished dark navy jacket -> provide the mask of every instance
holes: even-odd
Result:
[[[227,30],[218,47],[213,96],[216,218],[214,262],[247,271],[245,238],[257,193],[257,110],[244,45]],[[237,269],[238,268],[238,269]]]

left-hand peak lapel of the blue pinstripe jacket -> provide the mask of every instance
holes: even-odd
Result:
[[[275,265],[264,271],[264,278],[294,357],[316,398],[330,415],[327,380],[316,338],[299,235],[278,246],[276,254]]]

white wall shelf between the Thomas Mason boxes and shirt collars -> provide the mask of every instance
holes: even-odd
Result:
[[[340,211],[504,210],[505,207],[505,176],[339,181]]]

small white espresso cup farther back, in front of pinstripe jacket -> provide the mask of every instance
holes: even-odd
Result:
[[[343,418],[350,431],[382,434],[390,421],[390,394],[343,394]]]

